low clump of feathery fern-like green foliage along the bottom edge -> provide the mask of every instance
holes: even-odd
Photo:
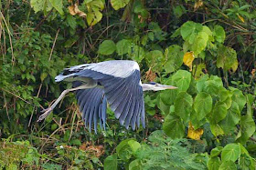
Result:
[[[124,144],[133,139],[127,139],[117,146],[125,147]],[[192,154],[182,145],[189,145],[186,139],[172,140],[162,131],[155,131],[149,135],[148,144],[139,144],[135,141],[130,144],[130,152],[123,152],[119,158],[127,159],[118,162],[119,167],[126,166],[129,169],[203,169],[206,168],[208,155]],[[138,148],[140,145],[140,148]],[[138,148],[138,149],[132,149]],[[104,169],[116,168],[117,154],[109,155],[104,162]],[[124,155],[124,156],[123,156]],[[204,163],[204,164],[202,164]],[[111,165],[114,165],[111,167]]]

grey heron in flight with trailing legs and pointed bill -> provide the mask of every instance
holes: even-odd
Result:
[[[107,103],[120,124],[126,129],[131,125],[134,130],[140,123],[145,127],[143,91],[176,88],[153,82],[142,84],[139,65],[129,60],[72,66],[55,77],[56,82],[63,80],[71,82],[73,87],[64,90],[53,105],[42,111],[44,114],[37,121],[45,119],[67,93],[76,91],[85,126],[91,132],[93,124],[95,133],[98,121],[105,129]]]

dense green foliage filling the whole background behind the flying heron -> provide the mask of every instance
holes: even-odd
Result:
[[[17,141],[1,143],[0,169],[255,169],[253,1],[29,2],[0,3],[0,137]],[[74,95],[37,123],[70,87],[54,83],[63,68],[111,59],[178,87],[144,94],[145,130],[109,109],[90,134]]]

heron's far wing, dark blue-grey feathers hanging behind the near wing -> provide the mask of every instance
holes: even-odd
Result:
[[[74,82],[73,86],[81,85],[80,82]],[[97,134],[97,124],[100,122],[101,129],[105,130],[106,116],[107,116],[107,99],[104,91],[100,87],[83,89],[76,91],[78,105],[80,105],[80,112],[82,113],[82,120],[85,126],[91,132],[91,125],[94,125],[94,131]]]

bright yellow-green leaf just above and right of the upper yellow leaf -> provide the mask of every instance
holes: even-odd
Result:
[[[197,56],[208,45],[208,34],[205,32],[199,32],[196,36],[196,41],[191,45],[191,50]]]

